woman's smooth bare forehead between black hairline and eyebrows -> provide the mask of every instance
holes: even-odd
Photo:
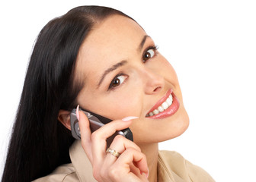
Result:
[[[107,17],[94,25],[79,49],[76,72],[82,73],[85,80],[88,75],[90,80],[97,80],[110,65],[129,59],[145,35],[145,31],[128,17]]]

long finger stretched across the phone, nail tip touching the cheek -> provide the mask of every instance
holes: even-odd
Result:
[[[106,156],[107,138],[117,130],[129,127],[131,123],[131,121],[122,120],[111,121],[91,134],[91,152],[95,162],[94,165],[101,165]]]

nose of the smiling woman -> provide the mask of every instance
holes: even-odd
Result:
[[[145,93],[159,93],[165,87],[165,79],[161,75],[149,69],[143,69],[143,81],[145,83]]]

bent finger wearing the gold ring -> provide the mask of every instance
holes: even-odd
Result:
[[[128,140],[121,135],[117,135],[110,145],[110,149],[114,149],[116,152],[119,152],[120,154],[122,154],[123,151],[125,151],[128,148],[133,148],[141,152],[139,146],[137,146],[136,143],[133,143],[131,140]],[[105,158],[104,164],[110,165],[110,164],[113,164],[116,160],[117,160],[117,157],[108,153]]]

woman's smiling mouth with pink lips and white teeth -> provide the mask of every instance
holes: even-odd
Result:
[[[169,89],[165,96],[152,107],[146,118],[167,118],[178,111],[179,105],[178,98],[174,95],[172,89]]]

